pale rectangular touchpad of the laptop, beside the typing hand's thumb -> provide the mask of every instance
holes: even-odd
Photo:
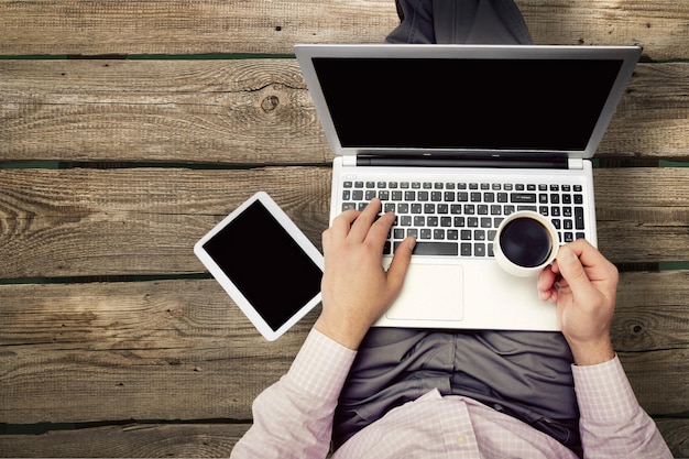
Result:
[[[412,263],[402,293],[385,317],[393,320],[462,320],[463,291],[462,266]]]

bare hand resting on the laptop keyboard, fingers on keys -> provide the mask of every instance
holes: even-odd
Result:
[[[376,220],[380,208],[376,198],[361,212],[347,210],[322,233],[322,312],[315,328],[350,349],[359,348],[400,294],[416,243],[405,239],[385,272],[383,245],[395,217],[385,214]]]

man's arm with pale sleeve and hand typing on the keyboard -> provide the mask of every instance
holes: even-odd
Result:
[[[405,240],[387,271],[383,244],[394,216],[376,219],[374,199],[348,210],[322,234],[322,312],[289,372],[253,403],[253,426],[232,458],[318,458],[330,447],[332,416],[356,349],[402,289],[414,239]]]

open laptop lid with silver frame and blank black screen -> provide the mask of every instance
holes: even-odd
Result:
[[[637,46],[296,45],[338,155],[588,159]]]

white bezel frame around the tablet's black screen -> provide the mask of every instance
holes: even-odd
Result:
[[[201,261],[201,263],[208,269],[210,274],[218,281],[222,288],[228,293],[237,306],[244,313],[244,315],[251,320],[253,326],[259,332],[269,341],[274,341],[292,328],[297,321],[299,321],[308,312],[310,312],[316,305],[320,303],[321,294],[310,298],[287,321],[285,321],[278,329],[274,330],[256,310],[249,299],[240,292],[222,269],[216,263],[214,258],[205,250],[204,244],[220,232],[232,220],[238,218],[242,212],[253,205],[255,201],[260,201],[263,207],[272,215],[275,220],[282,226],[282,228],[288,233],[288,236],[296,242],[302,251],[320,269],[324,270],[322,254],[316,249],[316,247],[306,238],[306,236],[299,230],[299,228],[289,219],[289,217],[280,208],[280,206],[267,195],[265,192],[259,192],[241,206],[234,209],[230,215],[222,219],[216,227],[214,227],[206,236],[204,236],[194,245],[194,253]],[[295,282],[298,282],[298,277]]]

